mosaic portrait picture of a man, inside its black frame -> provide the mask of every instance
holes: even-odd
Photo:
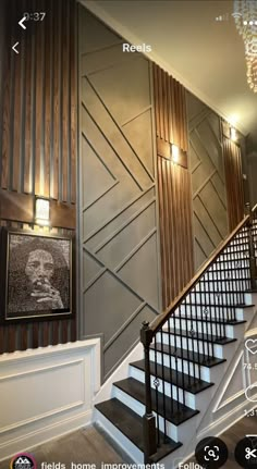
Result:
[[[5,317],[70,311],[69,239],[9,235]]]

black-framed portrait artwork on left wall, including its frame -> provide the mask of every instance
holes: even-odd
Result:
[[[74,313],[73,238],[1,229],[1,320]]]

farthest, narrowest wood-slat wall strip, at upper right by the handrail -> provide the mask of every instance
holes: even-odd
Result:
[[[244,217],[244,189],[241,148],[231,139],[223,136],[223,155],[225,163],[227,198],[230,231]]]

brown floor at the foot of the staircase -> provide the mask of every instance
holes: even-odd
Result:
[[[256,433],[257,417],[245,417],[223,435],[220,435],[221,440],[223,440],[229,447],[229,460],[224,466],[225,469],[240,468],[234,460],[235,445],[245,435]],[[30,451],[30,453],[35,456],[38,469],[40,469],[40,465],[44,461],[48,464],[60,461],[65,464],[66,469],[71,468],[71,462],[79,465],[95,464],[97,469],[101,469],[101,462],[126,462],[127,465],[132,462],[113,446],[109,437],[103,435],[102,432],[95,427],[78,430],[61,439],[45,443]],[[195,459],[191,459],[191,461],[195,462]],[[10,460],[2,461],[0,462],[0,469],[8,469],[9,465]]]

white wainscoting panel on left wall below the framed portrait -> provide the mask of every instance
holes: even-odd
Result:
[[[0,460],[86,427],[100,388],[100,338],[0,356]]]

